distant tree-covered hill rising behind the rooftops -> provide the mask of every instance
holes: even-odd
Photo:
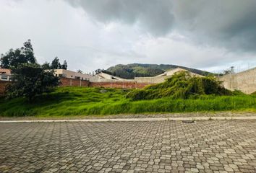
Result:
[[[106,71],[114,76],[119,76],[124,79],[134,79],[136,77],[143,77],[143,76],[156,76],[159,74],[163,74],[164,71],[168,71],[174,68],[184,68],[188,71],[192,71],[196,74],[201,74],[207,76],[211,74],[207,71],[197,70],[195,68],[187,68],[184,66],[176,66],[171,64],[147,64],[147,63],[131,63],[127,65],[118,64],[116,66],[111,66]]]

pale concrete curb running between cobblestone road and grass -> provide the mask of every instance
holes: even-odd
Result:
[[[61,123],[61,122],[135,122],[135,121],[182,121],[182,120],[256,120],[248,117],[152,117],[152,118],[113,118],[113,119],[75,119],[75,120],[0,120],[0,123]]]

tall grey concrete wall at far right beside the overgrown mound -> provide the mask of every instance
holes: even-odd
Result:
[[[221,76],[223,86],[230,90],[241,90],[246,94],[251,94],[256,91],[256,68],[242,71],[237,74],[226,74]]]

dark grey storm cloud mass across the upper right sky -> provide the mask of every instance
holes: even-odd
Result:
[[[255,51],[255,0],[67,0],[100,22],[137,25],[154,36],[171,30],[197,43]]]

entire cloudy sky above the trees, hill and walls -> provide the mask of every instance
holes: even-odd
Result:
[[[32,40],[39,63],[70,70],[166,63],[256,66],[255,0],[1,0],[0,53]]]

